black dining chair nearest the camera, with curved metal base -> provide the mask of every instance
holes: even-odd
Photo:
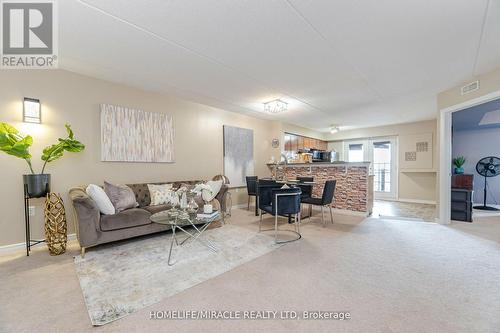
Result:
[[[279,184],[259,186],[259,232],[274,230],[274,242],[277,244],[299,240],[300,234],[300,187],[281,188]],[[262,230],[263,212],[274,216],[274,229]],[[295,230],[278,229],[278,216],[294,217]],[[292,232],[296,235],[293,239],[278,239],[278,231]]]

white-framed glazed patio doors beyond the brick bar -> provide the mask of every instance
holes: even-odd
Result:
[[[397,140],[395,137],[346,141],[344,153],[349,162],[371,162],[373,191],[377,199],[397,198]]]

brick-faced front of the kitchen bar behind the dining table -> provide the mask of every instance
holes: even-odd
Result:
[[[268,164],[274,172],[274,164]],[[360,163],[297,163],[280,166],[277,176],[296,179],[298,176],[314,177],[313,196],[321,197],[325,182],[336,179],[333,208],[356,212],[371,212],[373,194],[369,191],[369,162]],[[283,174],[284,173],[284,174]]]

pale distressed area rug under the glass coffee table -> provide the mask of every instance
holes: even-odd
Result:
[[[210,251],[189,242],[173,252],[168,266],[170,233],[90,250],[75,267],[94,326],[107,324],[160,302],[278,248],[274,239],[241,227],[225,225],[203,237],[217,245]]]

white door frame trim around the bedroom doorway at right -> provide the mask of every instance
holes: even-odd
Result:
[[[451,114],[500,98],[495,91],[439,110],[439,223],[451,221]]]

